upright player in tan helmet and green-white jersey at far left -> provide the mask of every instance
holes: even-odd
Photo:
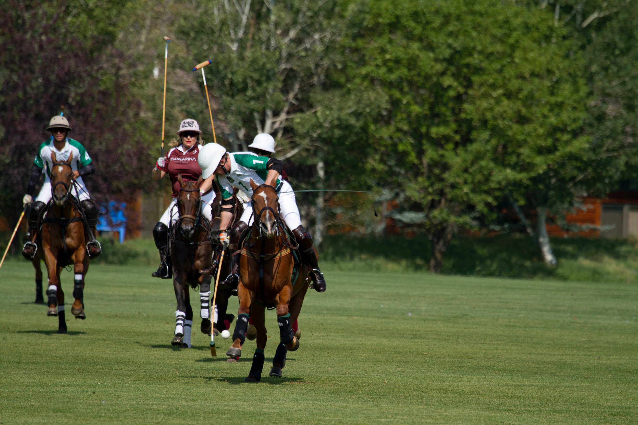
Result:
[[[71,196],[77,198],[84,209],[87,222],[89,222],[89,227],[91,227],[91,229],[86,229],[87,233],[92,231],[93,234],[91,236],[95,235],[95,226],[98,225],[98,208],[93,201],[89,200],[91,196],[84,184],[84,180],[82,180],[82,176],[91,175],[95,172],[95,166],[89,156],[89,152],[82,146],[82,143],[67,137],[68,132],[71,131],[71,127],[66,117],[61,115],[53,117],[48,124],[47,131],[51,132],[51,137],[47,141],[44,141],[38,148],[31,178],[29,178],[29,185],[27,186],[27,193],[24,195],[24,198],[22,198],[24,205],[31,205],[36,185],[38,185],[40,176],[44,173],[44,184],[35,202],[31,206],[31,211],[29,211],[29,235],[31,236],[31,241],[25,243],[22,249],[22,255],[27,260],[33,259],[38,250],[38,245],[36,245],[38,217],[45,206],[47,206],[53,194],[51,180],[49,179],[53,167],[51,159],[52,153],[56,154],[57,161],[61,162],[67,161],[69,155],[73,154],[71,169],[73,170],[73,179],[76,185],[70,188]],[[95,258],[102,252],[100,242],[95,240],[94,237],[90,237],[89,239],[90,241],[86,245],[87,251],[89,252],[90,258]]]

